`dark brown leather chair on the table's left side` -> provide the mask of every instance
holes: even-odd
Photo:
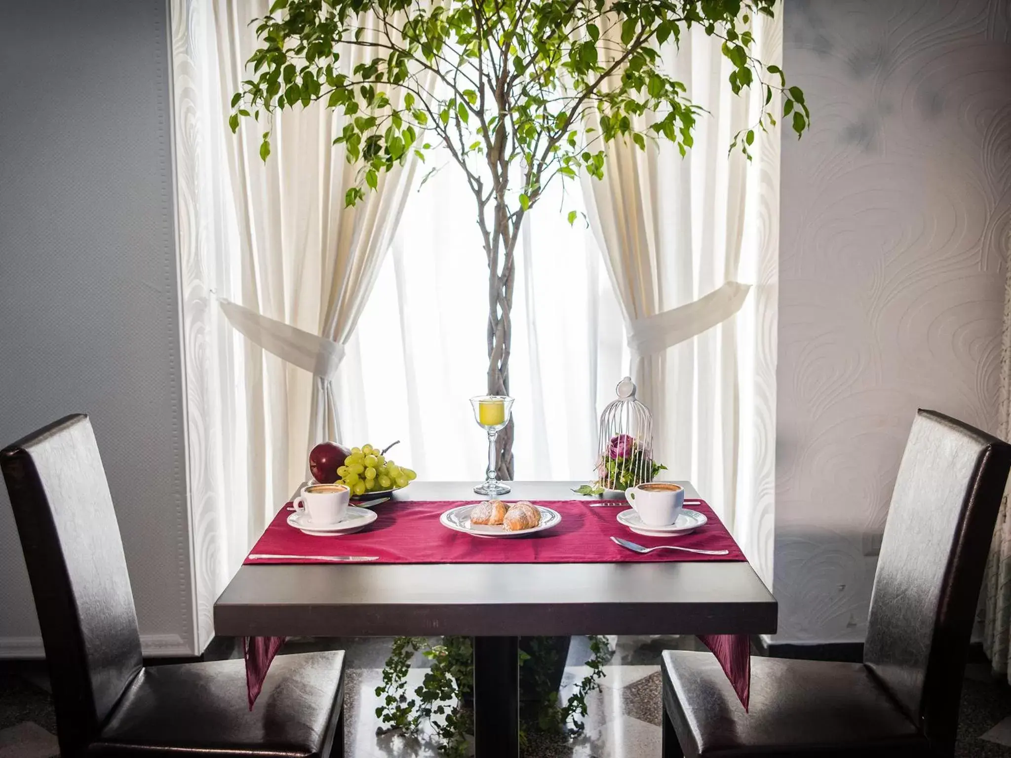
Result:
[[[343,754],[343,652],[278,656],[251,712],[242,660],[145,667],[98,446],[73,415],[0,451],[63,758]]]

